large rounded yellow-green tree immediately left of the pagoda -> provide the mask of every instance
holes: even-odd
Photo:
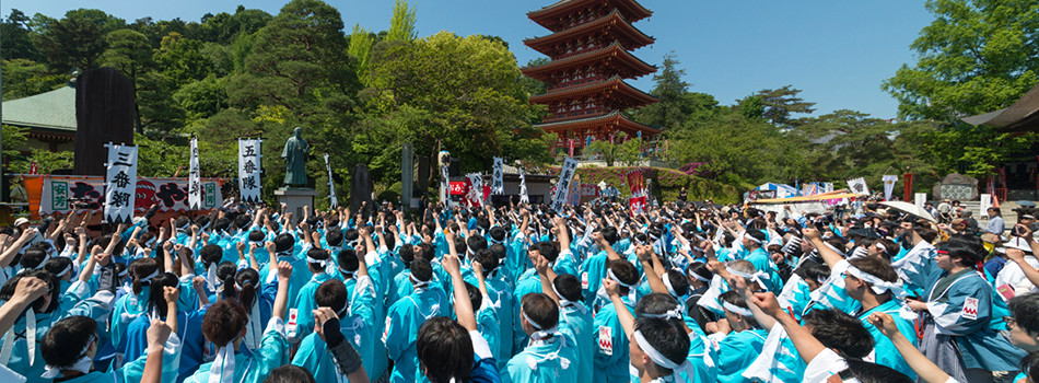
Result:
[[[354,150],[373,159],[380,177],[399,177],[394,164],[401,142],[430,155],[431,177],[442,149],[460,158],[467,171],[486,169],[492,155],[507,161],[548,152],[544,141],[529,141],[537,149],[502,143],[535,136],[527,121],[538,109],[520,98],[520,68],[500,43],[446,32],[415,42],[385,40],[372,51],[369,78],[369,118]]]

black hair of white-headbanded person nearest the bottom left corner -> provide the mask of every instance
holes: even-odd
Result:
[[[97,322],[89,316],[74,315],[56,322],[39,343],[39,355],[48,365],[69,367],[83,357],[95,340]],[[95,346],[96,347],[96,346]]]

